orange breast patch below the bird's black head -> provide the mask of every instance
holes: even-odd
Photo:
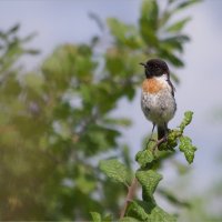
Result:
[[[163,88],[163,83],[158,81],[157,79],[145,79],[142,83],[143,92],[148,93],[158,93]]]

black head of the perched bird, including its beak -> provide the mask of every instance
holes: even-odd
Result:
[[[164,73],[168,74],[168,77],[170,75],[168,64],[163,60],[151,59],[147,63],[141,62],[140,64],[144,67],[147,78],[161,77]]]

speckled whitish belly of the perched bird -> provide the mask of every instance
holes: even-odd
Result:
[[[176,104],[169,90],[161,90],[155,94],[142,92],[141,108],[148,120],[164,125],[173,118]]]

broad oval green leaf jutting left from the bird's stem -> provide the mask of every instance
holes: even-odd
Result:
[[[129,183],[131,173],[124,164],[117,159],[100,161],[100,169],[112,180],[121,183]]]

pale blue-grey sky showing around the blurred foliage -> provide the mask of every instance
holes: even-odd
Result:
[[[100,33],[97,24],[89,19],[88,12],[95,12],[100,18],[117,17],[125,22],[135,23],[139,17],[138,0],[0,0],[0,29],[20,22],[21,36],[38,32],[31,46],[42,54],[34,59],[27,58],[28,68],[38,67],[42,58],[52,52],[56,46],[64,42],[87,42]],[[178,111],[169,127],[176,127],[185,110],[194,111],[192,125],[186,134],[199,148],[194,164],[194,185],[206,186],[221,171],[216,157],[222,148],[222,121],[213,120],[213,112],[222,108],[222,1],[206,0],[189,9],[193,20],[186,28],[192,41],[184,50],[185,68],[178,70],[181,84],[176,87]],[[141,70],[141,74],[143,71]],[[132,145],[132,155],[141,149],[141,139],[151,130],[140,109],[140,91],[133,103],[122,100],[115,114],[129,117],[133,127],[124,132],[125,140]],[[222,153],[222,151],[221,151]],[[221,154],[222,155],[222,154]],[[185,163],[182,154],[178,157]],[[172,165],[167,170],[169,179]],[[173,174],[173,173],[172,173]]]

